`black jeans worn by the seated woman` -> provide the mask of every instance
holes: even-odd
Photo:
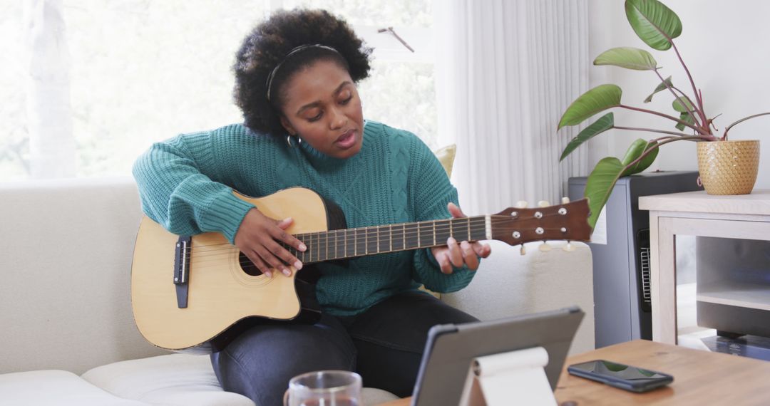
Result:
[[[349,318],[323,314],[316,324],[270,324],[240,334],[211,355],[226,391],[259,406],[282,404],[289,380],[323,369],[357,371],[363,386],[412,394],[427,332],[435,324],[477,321],[433,296],[410,292]]]

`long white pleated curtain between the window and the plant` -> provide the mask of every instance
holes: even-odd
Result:
[[[588,90],[588,0],[434,4],[441,141],[457,143],[453,182],[468,215],[525,200],[555,204],[588,151],[559,162],[577,128],[556,128]]]

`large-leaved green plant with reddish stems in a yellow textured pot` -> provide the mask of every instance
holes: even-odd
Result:
[[[622,91],[619,86],[599,85],[572,102],[559,121],[559,129],[565,126],[579,125],[600,111],[624,108],[668,118],[676,124],[675,128],[678,131],[629,128],[616,125],[613,113],[609,112],[580,131],[567,144],[561,154],[560,161],[585,141],[611,128],[651,131],[661,134],[661,136],[649,140],[639,138],[631,143],[623,159],[603,158],[594,167],[591,175],[588,175],[585,188],[585,196],[589,198],[591,208],[591,217],[588,220],[591,227],[596,224],[601,209],[607,203],[618,178],[644,171],[658,156],[658,148],[674,141],[698,141],[700,180],[709,194],[741,195],[751,193],[758,171],[759,141],[728,141],[728,132],[742,121],[761,115],[770,115],[770,112],[741,118],[725,127],[725,131],[719,135],[718,130],[712,124],[715,117],[706,115],[701,90],[695,86],[690,71],[674,43],[674,38],[681,34],[681,20],[678,15],[658,0],[626,0],[625,13],[631,28],[644,43],[659,51],[674,50],[687,75],[690,87],[688,91],[691,90],[692,97],[682,88],[674,85],[671,76],[663,78],[657,62],[644,49],[612,48],[594,60],[594,65],[614,65],[621,68],[653,72],[657,75],[659,84],[644,102],[650,102],[658,92],[666,92],[674,96],[672,108],[675,113],[669,115],[660,111],[625,105],[621,103]],[[731,173],[735,170],[738,173]],[[714,178],[714,175],[725,176],[727,180]],[[742,184],[739,185],[739,183]]]

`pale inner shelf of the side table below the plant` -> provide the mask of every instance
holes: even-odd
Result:
[[[696,300],[770,311],[770,285],[734,281],[719,281],[718,284],[699,285]]]

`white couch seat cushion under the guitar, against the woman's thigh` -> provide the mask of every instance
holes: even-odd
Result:
[[[243,395],[223,391],[205,355],[169,354],[120,361],[82,375],[121,398],[152,404],[253,406]]]

